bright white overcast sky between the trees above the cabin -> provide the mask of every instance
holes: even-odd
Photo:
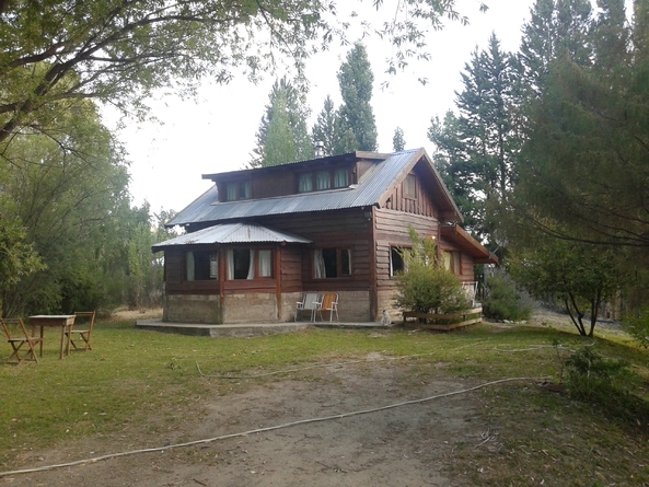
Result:
[[[371,4],[369,0],[366,3]],[[432,60],[398,73],[383,91],[384,60],[390,46],[376,38],[363,40],[374,73],[372,107],[379,151],[392,152],[394,129],[399,126],[406,149],[424,147],[431,154],[434,148],[426,136],[430,119],[436,115],[441,118],[454,107],[454,92],[462,89],[460,73],[476,46],[485,48],[491,32],[496,32],[503,50],[518,50],[521,26],[529,19],[533,0],[488,0],[487,13],[478,11],[478,0],[460,0],[459,8],[470,16],[471,24],[448,22],[443,31],[432,33],[428,38]],[[383,7],[382,12],[389,12],[389,7]],[[308,95],[312,111],[310,127],[327,94],[339,106],[336,73],[347,50],[336,51],[332,46],[329,53],[318,55],[308,66],[312,83]],[[419,77],[428,78],[428,84],[421,85],[417,81]],[[177,97],[157,102],[152,111],[157,123],[126,120],[127,126],[118,138],[131,161],[134,204],[148,200],[154,212],[179,211],[211,185],[201,178],[202,174],[244,167],[255,147],[255,132],[273,81],[268,77],[255,85],[239,77],[225,86],[206,82],[197,103]]]

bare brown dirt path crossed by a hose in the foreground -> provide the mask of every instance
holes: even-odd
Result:
[[[228,396],[218,396],[206,381],[205,396],[173,427],[155,425],[152,419],[155,433],[125,431],[115,438],[71,442],[55,451],[34,452],[23,459],[21,467],[366,410],[472,385],[462,380],[417,382],[406,368],[384,362],[321,369],[304,379],[254,386]],[[0,486],[464,486],[461,478],[450,478],[448,466],[459,443],[480,442],[485,427],[474,418],[476,394],[199,447],[20,474],[0,478]]]

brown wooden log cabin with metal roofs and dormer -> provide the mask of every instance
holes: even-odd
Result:
[[[215,185],[167,227],[186,233],[164,252],[163,320],[293,321],[304,292],[336,292],[340,321],[393,317],[399,248],[409,227],[434,239],[457,278],[496,257],[468,235],[424,149],[352,152],[271,167],[206,174]]]

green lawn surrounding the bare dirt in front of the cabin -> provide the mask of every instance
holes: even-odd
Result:
[[[630,362],[640,376],[639,393],[646,396],[648,352],[622,333],[596,329],[595,334],[598,353]],[[310,329],[206,338],[100,321],[93,351],[59,360],[56,333],[46,332],[45,339],[40,363],[0,364],[1,471],[14,467],[21,452],[61,440],[115,437],[136,429],[155,432],[178,424],[183,411],[199,404],[206,384],[210,393],[225,395],[302,372],[250,381],[209,375],[259,374],[380,353],[408,357],[397,363],[409,368],[414,387],[417,381],[452,378],[476,384],[512,376],[557,379],[560,352],[551,345],[578,348],[591,343],[565,323],[509,328],[480,324],[449,334]],[[8,356],[9,347],[0,351]],[[200,376],[197,363],[208,376]],[[596,407],[531,384],[508,383],[477,393],[482,419],[500,431],[499,448],[494,450],[495,443],[459,448],[449,465],[457,478],[494,486],[541,485],[541,479],[544,485],[566,486],[649,483],[647,437]],[[593,476],[584,477],[584,468]]]

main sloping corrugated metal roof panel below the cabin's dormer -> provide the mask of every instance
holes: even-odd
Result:
[[[420,150],[395,152],[387,159],[378,162],[362,176],[358,185],[328,192],[219,202],[215,185],[182,210],[167,225],[378,205],[381,197],[391,189],[393,184],[397,183],[397,176],[404,167],[416,162],[414,159],[419,159],[419,152]]]

